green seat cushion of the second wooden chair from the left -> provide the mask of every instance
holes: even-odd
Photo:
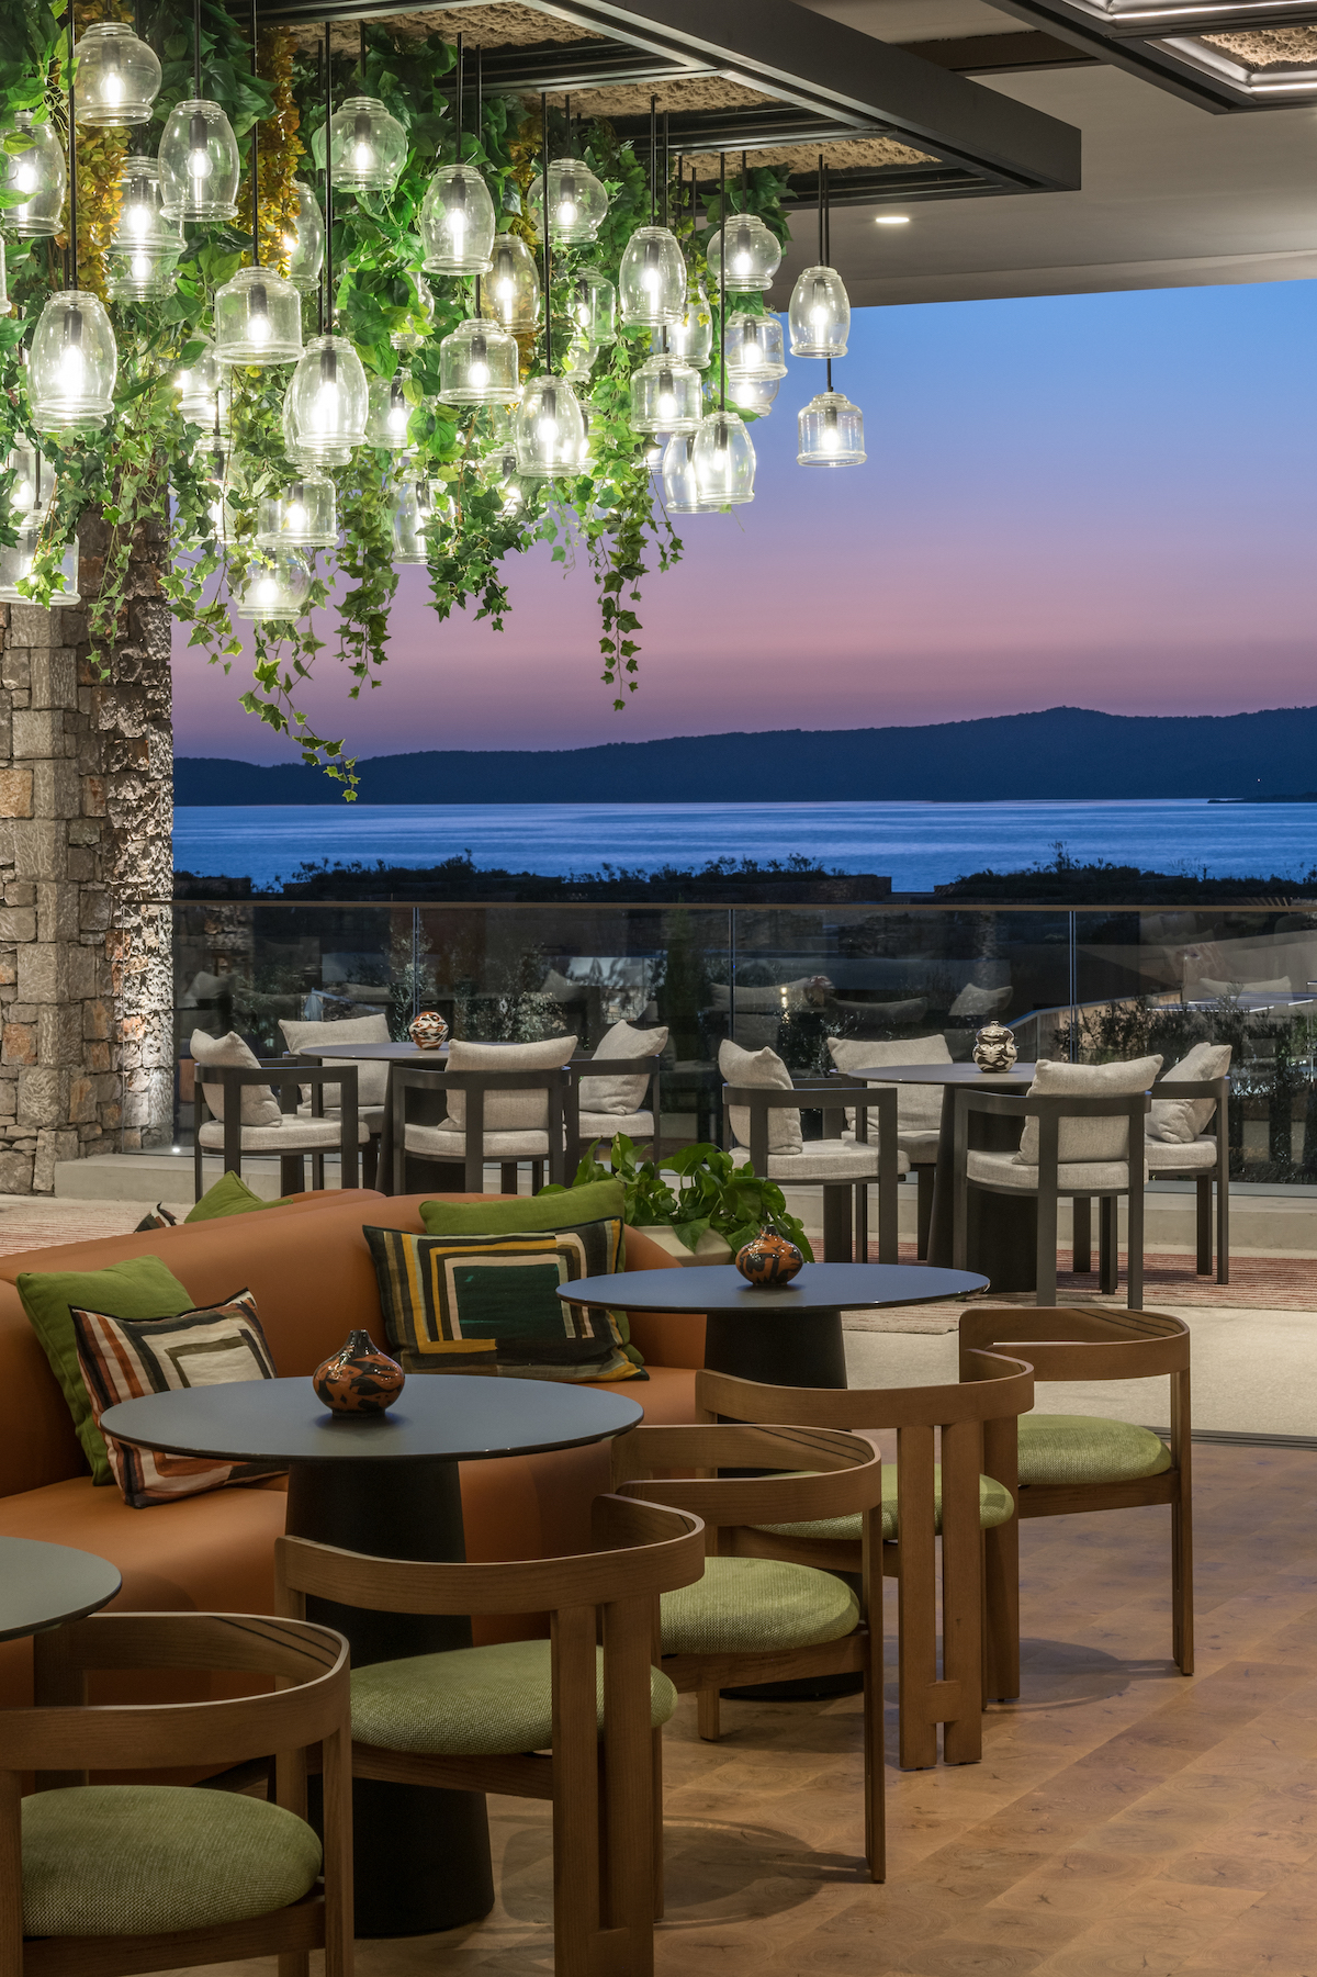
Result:
[[[352,1671],[352,1736],[378,1750],[431,1758],[506,1758],[554,1742],[548,1641],[457,1647],[447,1655],[376,1661]],[[603,1730],[603,1649],[595,1649],[599,1730]],[[657,1730],[676,1708],[676,1690],[649,1671],[649,1722]]]

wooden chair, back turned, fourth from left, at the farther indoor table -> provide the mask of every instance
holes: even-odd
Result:
[[[947,1763],[977,1763],[983,1756],[981,1532],[1014,1516],[1010,1493],[983,1473],[983,1435],[985,1423],[1012,1429],[1032,1404],[1028,1364],[995,1352],[967,1352],[959,1386],[834,1390],[696,1372],[696,1412],[704,1419],[803,1421],[866,1435],[896,1429],[896,1463],[882,1471],[882,1570],[896,1580],[898,1597],[904,1771],[937,1763],[937,1724]],[[755,1524],[728,1536],[738,1558],[789,1558],[825,1572],[858,1572],[862,1564],[858,1516]]]

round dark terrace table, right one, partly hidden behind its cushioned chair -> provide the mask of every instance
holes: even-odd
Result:
[[[955,1200],[955,1093],[957,1091],[1028,1091],[1034,1081],[1032,1064],[1012,1064],[1009,1072],[981,1072],[977,1064],[874,1064],[850,1077],[868,1077],[884,1085],[941,1085],[941,1125],[937,1129],[937,1166],[933,1170],[933,1222],[927,1236],[927,1259],[939,1267],[951,1263],[951,1218]],[[969,1115],[969,1145],[977,1153],[1014,1153],[1020,1143],[1018,1119],[993,1119],[987,1113]],[[993,1291],[1034,1291],[1038,1287],[1038,1202],[1032,1194],[985,1194],[969,1190],[965,1251],[973,1269],[981,1269]]]

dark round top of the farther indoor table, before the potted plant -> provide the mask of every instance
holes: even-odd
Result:
[[[615,1311],[876,1311],[884,1305],[927,1305],[987,1289],[987,1277],[927,1263],[807,1263],[781,1289],[746,1283],[734,1263],[688,1263],[684,1269],[619,1269],[615,1277],[577,1277],[558,1287],[573,1305]]]

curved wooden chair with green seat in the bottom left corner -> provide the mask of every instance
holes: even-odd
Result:
[[[348,1643],[261,1613],[97,1613],[34,1639],[36,1708],[0,1710],[0,1969],[131,1977],[279,1957],[352,1977]],[[216,1669],[275,1682],[223,1702],[89,1704],[99,1669]],[[307,1823],[307,1748],[324,1841]],[[101,1783],[221,1771],[275,1752],[275,1799]],[[22,1773],[36,1795],[20,1803]],[[89,1781],[91,1779],[91,1781]]]

